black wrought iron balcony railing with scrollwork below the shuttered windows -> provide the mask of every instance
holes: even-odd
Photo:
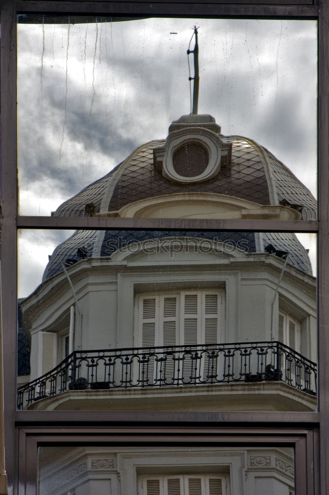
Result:
[[[280,342],[74,351],[21,387],[17,407],[66,391],[282,381],[316,395],[317,365]]]

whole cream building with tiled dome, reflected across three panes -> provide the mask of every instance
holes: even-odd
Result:
[[[53,213],[70,215],[298,220],[316,203],[268,150],[188,115]],[[19,409],[316,407],[316,281],[293,233],[76,231],[20,310]],[[294,493],[286,447],[60,448],[44,453],[40,495]]]

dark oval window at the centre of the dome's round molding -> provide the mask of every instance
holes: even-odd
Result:
[[[209,154],[205,146],[196,142],[185,142],[172,155],[175,172],[182,177],[197,177],[205,172]]]

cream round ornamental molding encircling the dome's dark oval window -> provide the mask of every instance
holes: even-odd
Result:
[[[162,175],[181,183],[203,182],[220,170],[222,140],[201,127],[171,132],[162,158]]]

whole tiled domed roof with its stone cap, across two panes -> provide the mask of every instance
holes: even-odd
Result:
[[[179,134],[181,129],[187,130],[187,133],[201,132],[200,128],[216,135],[221,143],[219,146],[230,150],[230,158],[225,166],[218,168],[211,177],[196,182],[171,180],[161,173],[157,166],[157,153],[163,155],[170,133]],[[121,208],[136,201],[194,193],[200,197],[207,195],[207,198],[209,195],[221,195],[221,198],[235,198],[261,206],[288,206],[295,210],[299,218],[316,218],[315,198],[272,153],[251,139],[223,136],[220,132],[220,127],[211,116],[183,116],[171,124],[166,140],[151,141],[140,146],[114,170],[65,201],[53,214],[120,216]],[[111,256],[115,250],[140,240],[189,235],[222,243],[247,238],[249,253],[286,251],[289,252],[290,264],[312,274],[308,254],[294,234],[112,230],[77,231],[54,250],[43,281],[62,271],[61,263],[64,261],[74,263],[82,257]],[[110,249],[109,245],[112,246]]]

